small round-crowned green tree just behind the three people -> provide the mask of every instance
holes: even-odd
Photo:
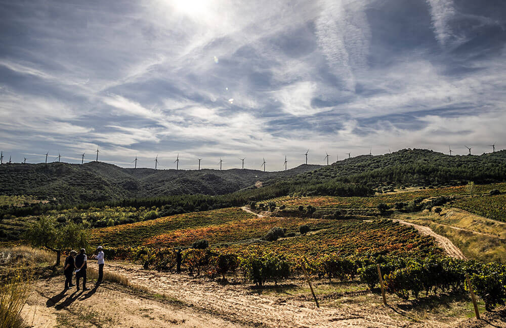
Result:
[[[89,232],[82,225],[59,225],[54,218],[43,216],[28,226],[25,238],[33,247],[46,247],[56,252],[56,265],[60,265],[61,252],[68,248],[88,246]]]

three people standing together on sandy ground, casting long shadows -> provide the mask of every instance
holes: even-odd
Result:
[[[102,282],[104,277],[104,250],[102,246],[97,247],[97,255],[92,255],[92,259],[96,258],[98,261],[98,280],[97,285]],[[87,269],[88,256],[86,249],[81,248],[79,254],[71,250],[70,255],[65,259],[63,264],[63,273],[65,274],[65,289],[77,286],[79,290],[79,281],[82,278],[82,290],[87,291],[86,288],[86,269]],[[75,285],[72,285],[72,276],[75,272]]]

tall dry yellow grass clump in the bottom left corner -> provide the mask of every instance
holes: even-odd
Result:
[[[30,295],[31,275],[24,271],[0,281],[0,328],[25,326],[20,312]]]

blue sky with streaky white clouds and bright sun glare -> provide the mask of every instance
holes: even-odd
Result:
[[[0,0],[4,161],[506,148],[503,0]]]

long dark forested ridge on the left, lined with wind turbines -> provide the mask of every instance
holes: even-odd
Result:
[[[287,171],[124,169],[104,162],[4,164],[0,194],[34,195],[59,203],[120,200],[181,194],[221,195],[320,168],[301,165]]]

